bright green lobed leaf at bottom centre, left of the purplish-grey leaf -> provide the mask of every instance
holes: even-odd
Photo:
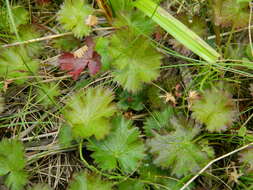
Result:
[[[140,132],[123,117],[115,118],[112,126],[112,132],[104,140],[89,142],[87,148],[94,151],[91,157],[103,170],[111,171],[119,166],[125,173],[133,172],[144,157]]]

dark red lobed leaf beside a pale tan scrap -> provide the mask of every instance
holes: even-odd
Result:
[[[73,80],[77,80],[80,74],[88,66],[90,75],[95,75],[101,68],[101,56],[94,51],[95,43],[91,37],[87,37],[85,45],[88,47],[81,56],[75,57],[73,53],[63,53],[58,60],[61,70],[67,71]]]

